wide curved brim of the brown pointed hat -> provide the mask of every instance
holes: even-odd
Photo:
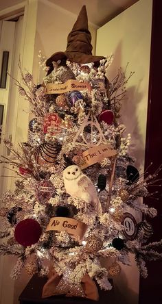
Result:
[[[69,59],[79,64],[88,64],[90,62],[98,62],[99,64],[100,60],[104,59],[104,56],[87,55],[81,52],[57,52],[47,59],[46,66],[51,66],[52,62],[57,62],[62,59]]]

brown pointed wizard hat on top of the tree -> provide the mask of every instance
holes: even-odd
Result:
[[[52,67],[52,62],[57,62],[62,59],[69,59],[72,62],[79,64],[86,64],[95,62],[99,65],[100,60],[104,57],[93,56],[91,45],[91,33],[88,26],[88,17],[86,13],[86,6],[84,5],[80,10],[80,14],[73,29],[67,37],[67,49],[65,52],[57,52],[47,59],[46,65]]]

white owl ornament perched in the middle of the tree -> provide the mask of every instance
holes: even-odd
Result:
[[[91,179],[84,175],[77,165],[68,166],[63,171],[65,189],[71,197],[78,197],[86,203],[92,203],[98,216],[102,215],[102,206]]]

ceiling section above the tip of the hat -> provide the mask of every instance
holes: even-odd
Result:
[[[101,27],[117,14],[139,0],[49,0],[50,2],[78,15],[82,5],[86,5],[89,22]]]

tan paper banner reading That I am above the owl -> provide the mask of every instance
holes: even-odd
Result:
[[[73,161],[80,166],[81,169],[87,168],[92,164],[101,162],[106,157],[112,157],[117,154],[116,150],[107,144],[100,144],[82,153],[82,157],[77,155],[73,157]]]

